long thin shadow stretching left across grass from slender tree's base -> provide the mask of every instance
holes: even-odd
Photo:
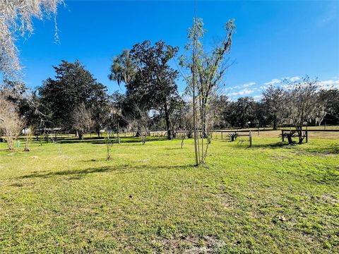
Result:
[[[136,172],[143,170],[171,170],[171,169],[187,169],[188,167],[194,167],[193,164],[188,165],[177,165],[177,166],[150,166],[150,165],[141,165],[141,166],[131,166],[131,165],[120,165],[119,167],[97,167],[97,168],[88,168],[88,169],[80,169],[80,170],[63,170],[63,171],[52,171],[49,173],[41,173],[35,172],[33,174],[28,174],[25,176],[17,177],[16,179],[33,179],[33,178],[42,178],[47,179],[54,176],[73,176],[71,179],[81,179],[83,176],[87,174],[93,173],[106,173],[106,172]]]

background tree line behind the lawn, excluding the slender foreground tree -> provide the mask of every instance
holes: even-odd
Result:
[[[177,48],[164,42],[151,46],[145,41],[115,57],[109,79],[117,80],[119,85],[124,83],[124,94],[109,95],[107,87],[79,61],[61,61],[54,66],[55,77],[44,80],[29,95],[25,95],[24,85],[6,80],[1,88],[2,119],[12,119],[7,120],[8,128],[16,129],[12,133],[24,126],[40,132],[61,128],[83,138],[88,131],[100,137],[103,129],[133,128],[137,135],[142,135],[143,129],[165,130],[169,140],[177,130],[189,131],[191,137],[192,104],[185,95],[179,96],[175,83],[179,72],[168,65],[176,52]],[[263,91],[260,101],[253,97],[231,101],[227,95],[215,94],[205,115],[208,129],[275,129],[284,125],[295,126],[298,131],[307,124],[338,124],[339,90],[319,90],[317,84],[317,80],[306,77],[295,83],[286,81],[285,89],[271,85]],[[6,134],[6,125],[2,125]]]

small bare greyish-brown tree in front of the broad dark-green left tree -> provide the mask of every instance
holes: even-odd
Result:
[[[90,130],[92,126],[92,118],[90,110],[85,107],[85,104],[80,104],[76,107],[71,114],[71,126],[76,133],[78,138],[83,139],[83,135]]]

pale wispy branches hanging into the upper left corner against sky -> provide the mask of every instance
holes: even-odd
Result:
[[[55,40],[58,41],[57,6],[62,0],[3,0],[0,1],[0,72],[7,78],[20,76],[20,61],[16,38],[31,35],[32,20],[54,17]]]

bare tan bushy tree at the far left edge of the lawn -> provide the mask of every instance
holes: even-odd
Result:
[[[23,126],[24,121],[20,118],[16,105],[6,98],[0,97],[0,129],[6,136],[9,150],[14,150]]]

